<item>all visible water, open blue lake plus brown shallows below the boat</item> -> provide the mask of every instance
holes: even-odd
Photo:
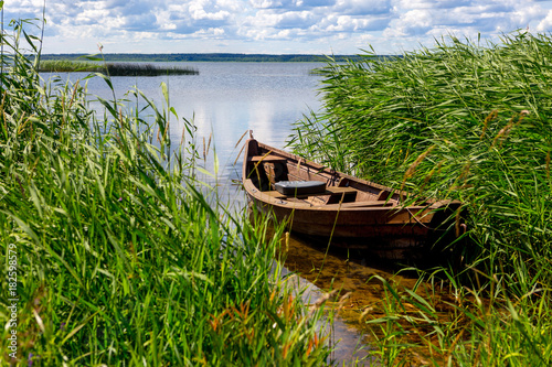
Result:
[[[199,75],[159,76],[159,77],[114,77],[113,86],[116,98],[124,98],[126,91],[138,87],[158,108],[166,105],[161,91],[161,83],[166,83],[169,90],[169,104],[174,108],[179,118],[170,120],[170,134],[173,142],[180,142],[184,128],[183,118],[193,121],[197,127],[200,145],[212,137],[211,147],[214,147],[220,161],[220,171],[216,183],[219,194],[236,209],[245,206],[245,195],[233,185],[233,181],[241,179],[242,159],[237,158],[241,147],[236,148],[240,138],[252,130],[254,137],[267,144],[284,148],[291,133],[293,125],[321,106],[317,89],[319,77],[310,74],[318,63],[181,63],[180,65],[198,68]],[[47,75],[44,75],[47,77]],[[86,74],[72,74],[73,80],[85,77]],[[113,94],[105,80],[92,78],[88,82],[91,94],[105,99],[112,99]],[[136,102],[129,98],[129,106]],[[99,105],[96,105],[98,107]],[[209,171],[213,171],[213,153],[204,162]],[[209,181],[209,177],[205,177]],[[211,181],[211,183],[213,183]],[[288,251],[286,266],[290,271],[305,274],[296,278],[298,287],[307,287],[308,296],[314,300],[325,293],[322,289],[330,288],[331,279],[337,269],[351,269],[347,260],[337,257],[323,257],[323,252],[308,247],[308,244],[291,241],[293,250]],[[322,260],[320,260],[322,256]],[[310,277],[314,259],[319,259],[315,268],[325,263],[319,277]],[[321,262],[320,262],[321,261]],[[300,266],[299,266],[300,265]],[[309,268],[310,267],[310,268]],[[357,269],[361,273],[357,278],[341,274],[338,282],[353,279],[363,284],[370,277],[370,268]],[[368,273],[367,273],[368,272]],[[309,280],[306,280],[309,279]],[[318,288],[317,285],[320,288]],[[311,301],[314,302],[314,301]],[[362,341],[362,334],[340,319],[335,320],[331,341],[338,342],[339,347],[332,358],[342,364],[361,358],[365,353],[355,353],[354,349]]]

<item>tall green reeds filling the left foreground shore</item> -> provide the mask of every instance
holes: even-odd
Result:
[[[322,305],[282,282],[279,237],[197,188],[192,123],[174,145],[168,107],[149,104],[147,125],[100,99],[97,120],[83,85],[43,82],[21,40],[2,34],[0,365],[329,363]]]

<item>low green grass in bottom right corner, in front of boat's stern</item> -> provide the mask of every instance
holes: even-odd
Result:
[[[497,277],[478,290],[454,284],[445,301],[450,311],[443,312],[443,300],[435,292],[423,287],[400,289],[380,280],[386,289],[385,316],[367,323],[375,336],[373,354],[384,366],[550,366],[552,361],[549,289],[534,289],[518,299]]]

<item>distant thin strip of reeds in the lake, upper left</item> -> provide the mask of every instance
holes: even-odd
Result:
[[[86,61],[46,60],[39,63],[42,73],[103,73],[109,76],[160,76],[198,75],[199,71],[190,66],[157,66],[142,63],[95,63]]]

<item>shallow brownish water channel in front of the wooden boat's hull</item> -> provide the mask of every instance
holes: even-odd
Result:
[[[378,266],[373,258],[348,258],[347,251],[321,249],[309,244],[305,238],[286,236],[282,240],[279,259],[285,272],[294,274],[290,281],[302,294],[307,304],[315,303],[328,292],[337,292],[330,299],[331,304],[340,307],[330,330],[331,344],[338,347],[331,355],[339,365],[373,366],[379,365],[369,355],[370,331],[360,320],[362,313],[381,302],[383,285],[374,276],[404,287],[413,287],[415,278],[396,274],[396,268]],[[342,301],[342,296],[347,300]],[[341,302],[340,302],[341,300]]]

